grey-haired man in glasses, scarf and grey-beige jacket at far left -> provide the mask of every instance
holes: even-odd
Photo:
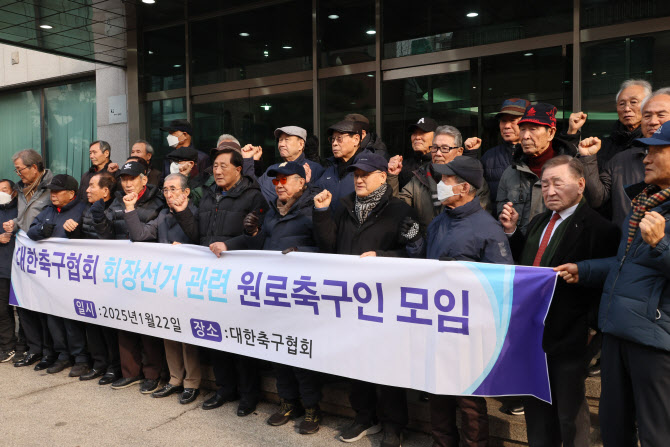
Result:
[[[51,192],[47,185],[51,183],[53,173],[44,169],[42,156],[32,149],[14,154],[12,163],[14,172],[21,179],[17,184],[18,216],[3,222],[2,227],[6,233],[18,233],[19,230],[27,232],[35,217],[51,204]],[[46,315],[23,307],[18,307],[17,310],[28,351],[18,352],[14,356],[14,366],[29,366],[43,359],[44,362],[40,362],[35,368],[38,371],[47,369],[55,361],[55,353],[47,330]]]

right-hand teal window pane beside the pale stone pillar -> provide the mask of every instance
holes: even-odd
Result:
[[[47,167],[79,180],[91,167],[88,146],[96,140],[95,81],[44,89]]]

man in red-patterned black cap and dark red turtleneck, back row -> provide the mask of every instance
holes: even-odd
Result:
[[[574,136],[556,137],[556,113],[556,107],[551,104],[540,102],[528,106],[518,123],[520,147],[515,149],[512,164],[505,169],[498,184],[497,214],[500,215],[507,202],[512,202],[519,213],[519,229],[524,234],[528,222],[546,210],[540,185],[542,166],[555,156],[577,154]]]

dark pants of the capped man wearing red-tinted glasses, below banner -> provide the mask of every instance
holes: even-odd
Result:
[[[321,400],[319,374],[280,363],[274,364],[277,393],[284,400],[297,402],[302,398],[305,408],[315,408]]]

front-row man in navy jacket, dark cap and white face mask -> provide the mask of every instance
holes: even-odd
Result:
[[[428,226],[426,237],[407,246],[410,256],[444,261],[513,264],[502,226],[484,211],[477,190],[484,184],[479,161],[456,157],[447,164],[433,164],[441,175],[437,199],[444,211]],[[403,226],[402,231],[407,228]],[[473,445],[488,445],[488,415],[483,397],[431,396],[430,421],[434,445],[451,445],[459,439],[456,413],[461,412],[463,438]]]

